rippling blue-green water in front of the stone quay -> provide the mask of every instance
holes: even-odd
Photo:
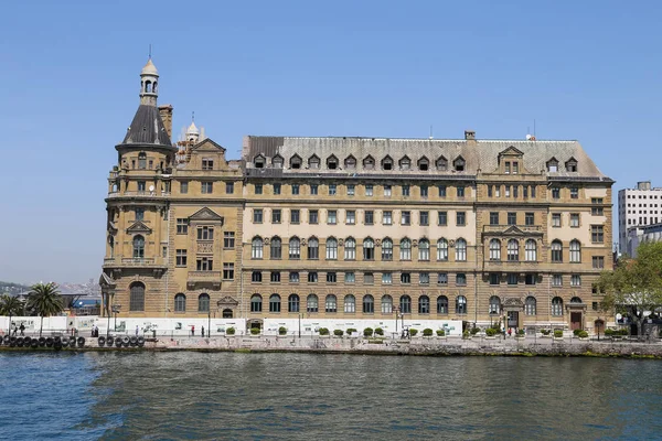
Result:
[[[0,438],[659,439],[662,363],[0,354]]]

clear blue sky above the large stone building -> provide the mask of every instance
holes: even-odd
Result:
[[[244,135],[577,139],[659,179],[662,2],[12,1],[0,28],[0,279],[84,281],[148,45],[159,103]],[[644,159],[645,158],[645,159]]]

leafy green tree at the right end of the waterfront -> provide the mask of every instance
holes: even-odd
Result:
[[[612,272],[600,275],[598,284],[606,292],[604,308],[629,312],[641,336],[644,311],[662,306],[662,243],[642,243],[636,259],[619,259]]]

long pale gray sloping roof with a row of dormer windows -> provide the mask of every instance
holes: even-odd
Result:
[[[455,178],[462,175],[471,176],[478,173],[492,173],[499,168],[499,154],[509,148],[514,148],[523,153],[523,169],[521,173],[530,172],[541,174],[545,171],[549,179],[554,180],[596,180],[610,181],[596,166],[586,151],[577,141],[552,141],[552,140],[441,140],[441,139],[388,139],[388,138],[351,138],[351,137],[246,137],[244,139],[243,160],[246,163],[247,175],[261,174],[261,170],[254,169],[253,160],[263,154],[267,159],[279,154],[285,160],[284,175],[310,174],[313,172],[323,175],[346,175],[349,170],[344,169],[344,159],[353,155],[357,165],[355,172],[361,176],[366,175],[429,175],[444,176],[448,174]],[[293,170],[289,168],[289,160],[295,154],[302,159],[302,168]],[[308,159],[313,154],[320,158],[319,171],[307,168]],[[340,168],[329,170],[327,158],[335,155]],[[376,161],[374,170],[365,170],[362,160],[372,155]],[[389,155],[394,161],[394,170],[385,171],[380,166],[383,158]],[[398,160],[408,157],[412,168],[408,171],[399,170]],[[417,161],[421,158],[429,161],[429,170],[421,171],[417,168]],[[448,160],[448,171],[438,171],[435,161],[444,157]],[[462,172],[453,171],[452,162],[462,157],[466,168]],[[557,172],[547,172],[547,162],[551,159],[558,161]],[[565,163],[574,159],[577,161],[577,172],[566,171]],[[267,161],[267,168],[271,165]],[[250,170],[253,169],[253,170]],[[353,172],[354,170],[352,170]],[[269,173],[266,173],[269,174]]]

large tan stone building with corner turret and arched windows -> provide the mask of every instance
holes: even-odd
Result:
[[[120,315],[604,325],[613,181],[577,141],[246,137],[227,161],[194,125],[178,152],[154,109],[154,142],[137,114],[109,179]]]

